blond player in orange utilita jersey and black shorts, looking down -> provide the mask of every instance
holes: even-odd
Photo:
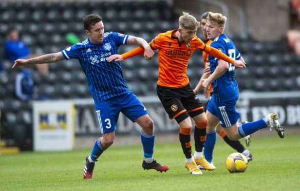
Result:
[[[205,160],[202,155],[203,145],[206,139],[206,127],[208,120],[205,117],[203,105],[194,93],[186,75],[188,62],[196,49],[200,49],[226,62],[230,62],[237,68],[246,68],[246,63],[234,61],[217,49],[205,45],[196,32],[200,23],[189,13],[183,12],[179,17],[179,28],[165,33],[160,33],[151,41],[152,49],[158,49],[159,74],[157,81],[157,94],[168,113],[170,119],[175,119],[180,127],[179,140],[185,155],[185,167],[191,174],[200,175],[201,170],[214,170],[215,167]],[[115,54],[108,58],[108,62],[122,61],[142,54],[144,49],[138,47],[122,55]],[[192,157],[192,121],[195,122],[195,152]]]

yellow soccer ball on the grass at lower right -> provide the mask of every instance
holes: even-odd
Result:
[[[242,173],[248,167],[248,160],[245,155],[234,152],[227,157],[226,167],[230,173]]]

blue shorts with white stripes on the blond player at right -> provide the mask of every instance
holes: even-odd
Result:
[[[226,102],[216,102],[213,95],[209,101],[207,110],[219,118],[222,127],[230,127],[240,118],[240,114],[235,108],[237,99],[238,98]]]

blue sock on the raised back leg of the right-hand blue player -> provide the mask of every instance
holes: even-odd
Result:
[[[246,137],[248,135],[251,135],[253,132],[266,128],[267,124],[264,119],[254,121],[254,122],[249,122],[249,123],[244,123],[241,126],[238,127],[238,133],[241,137]],[[206,144],[206,143],[205,143]]]

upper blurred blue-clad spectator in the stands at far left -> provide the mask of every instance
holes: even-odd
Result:
[[[27,45],[19,39],[20,34],[18,30],[10,30],[8,37],[9,39],[5,43],[5,54],[11,63],[14,63],[17,59],[30,59],[39,56],[30,53]],[[47,64],[39,64],[36,67],[43,75],[48,75],[49,69]]]

